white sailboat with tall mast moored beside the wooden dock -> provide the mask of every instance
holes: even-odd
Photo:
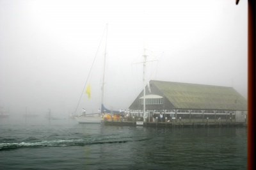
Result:
[[[108,38],[108,24],[106,26],[106,42]],[[103,113],[108,111],[103,104],[104,100],[104,81],[105,81],[105,68],[106,68],[106,50],[107,44],[105,45],[105,52],[104,52],[104,69],[103,69],[103,77],[102,77],[102,89],[101,89],[101,110],[97,113],[86,114],[84,111],[83,114],[79,116],[74,116],[78,123],[102,123],[103,121]],[[78,105],[77,105],[78,106]]]

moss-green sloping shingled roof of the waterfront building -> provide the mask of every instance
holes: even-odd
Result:
[[[234,88],[182,82],[150,81],[177,109],[247,110]]]

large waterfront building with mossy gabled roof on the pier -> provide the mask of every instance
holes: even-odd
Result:
[[[143,91],[129,107],[131,116],[143,117]],[[146,88],[147,121],[234,121],[244,122],[247,101],[234,88],[150,81]]]

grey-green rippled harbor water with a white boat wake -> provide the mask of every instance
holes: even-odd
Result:
[[[247,169],[246,128],[0,120],[0,169]]]

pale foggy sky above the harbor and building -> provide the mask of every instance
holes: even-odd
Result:
[[[109,109],[127,109],[147,81],[230,86],[247,99],[247,1],[0,0],[0,105],[10,112],[76,109],[108,23]],[[77,112],[100,107],[104,44]],[[78,113],[77,113],[78,114]]]

